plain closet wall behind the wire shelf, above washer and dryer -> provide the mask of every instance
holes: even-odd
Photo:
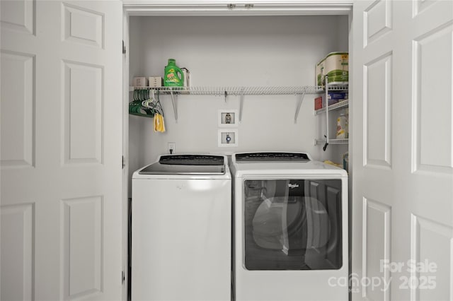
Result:
[[[168,58],[190,70],[193,86],[314,85],[316,62],[348,51],[348,16],[131,17],[130,81],[164,76]],[[131,93],[132,95],[132,93]],[[296,96],[245,96],[239,146],[217,146],[217,112],[239,110],[239,97],[181,95],[176,123],[168,95],[161,96],[166,133],[153,119],[130,115],[130,170],[153,162],[176,142],[176,152],[307,151],[322,117],[313,114],[316,95],[306,95],[294,124]],[[346,148],[345,148],[346,149]]]

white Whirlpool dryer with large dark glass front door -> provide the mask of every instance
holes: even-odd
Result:
[[[236,153],[236,301],[348,300],[348,175],[306,153]]]

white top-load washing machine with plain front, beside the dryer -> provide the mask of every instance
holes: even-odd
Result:
[[[132,176],[132,300],[231,300],[224,155],[161,155]]]

